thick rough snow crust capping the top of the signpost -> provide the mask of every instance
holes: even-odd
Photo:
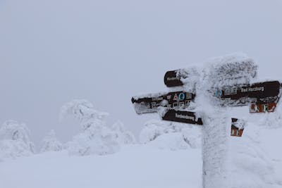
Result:
[[[246,84],[257,77],[255,61],[243,53],[228,54],[209,58],[207,61],[190,65],[188,68],[178,70],[183,87],[171,87],[175,91],[185,88],[187,92],[195,92],[199,83],[210,92],[228,85]],[[203,82],[204,81],[204,82]],[[197,88],[199,89],[199,88]]]

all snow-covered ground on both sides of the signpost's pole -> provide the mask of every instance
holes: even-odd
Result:
[[[282,187],[281,135],[282,129],[250,124],[243,137],[231,138],[231,151],[235,153],[230,158],[233,186]],[[177,137],[178,133],[170,133],[148,144],[123,146],[121,151],[106,156],[69,156],[67,151],[50,151],[7,158],[0,162],[0,187],[200,188],[202,150],[190,146],[171,150],[176,148]],[[259,152],[264,155],[255,156]],[[267,180],[263,180],[265,177]]]

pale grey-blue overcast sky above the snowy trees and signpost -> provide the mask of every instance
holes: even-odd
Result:
[[[235,51],[280,76],[279,0],[0,0],[0,122],[27,123],[32,140],[56,130],[66,142],[78,123],[59,123],[71,99],[138,134],[154,115],[136,115],[139,93],[166,91],[166,70]]]

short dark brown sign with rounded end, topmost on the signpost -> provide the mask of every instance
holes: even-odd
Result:
[[[167,87],[183,86],[183,82],[180,80],[182,77],[186,78],[185,75],[180,75],[180,70],[168,71],[164,75],[164,84]]]

